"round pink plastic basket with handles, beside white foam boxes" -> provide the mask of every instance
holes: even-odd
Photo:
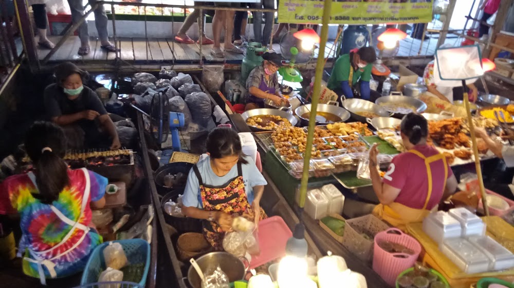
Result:
[[[389,253],[380,248],[378,243],[389,241],[405,246],[414,251],[413,255],[405,253]],[[401,232],[397,228],[390,228],[375,236],[373,250],[373,270],[389,285],[394,286],[396,277],[408,268],[411,268],[421,253],[421,245],[416,239]],[[399,257],[398,257],[399,256]]]

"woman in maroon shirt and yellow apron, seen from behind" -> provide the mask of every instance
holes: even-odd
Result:
[[[373,190],[380,200],[373,214],[399,229],[420,222],[457,188],[446,157],[427,144],[427,119],[415,113],[401,120],[400,135],[407,152],[395,156],[383,179],[378,173],[377,146],[370,151]]]

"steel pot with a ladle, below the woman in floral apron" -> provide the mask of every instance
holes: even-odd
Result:
[[[243,259],[248,262],[245,258]],[[204,274],[209,273],[209,271],[214,271],[219,265],[219,268],[227,274],[229,282],[243,279],[248,268],[241,259],[227,252],[211,252],[205,254],[196,259],[196,263],[198,263],[198,266]],[[188,280],[193,288],[201,288],[200,276],[198,276],[193,266],[189,267]]]

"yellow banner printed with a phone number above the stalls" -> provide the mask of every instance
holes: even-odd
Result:
[[[405,3],[396,3],[399,2],[398,0],[363,1],[333,1],[328,23],[393,24],[429,23],[432,21],[431,2],[423,0],[400,0]],[[323,6],[323,1],[318,0],[280,0],[279,23],[321,24]]]

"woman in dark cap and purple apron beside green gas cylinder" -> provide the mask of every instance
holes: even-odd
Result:
[[[255,67],[246,80],[245,110],[264,108],[264,100],[271,99],[275,105],[288,104],[279,93],[277,71],[282,66],[282,54],[266,52],[262,65]]]

